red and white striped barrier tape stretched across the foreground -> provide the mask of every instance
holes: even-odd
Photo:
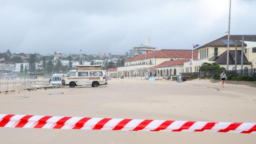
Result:
[[[18,114],[0,114],[0,127],[122,131],[213,131],[256,134],[256,123],[83,118]]]

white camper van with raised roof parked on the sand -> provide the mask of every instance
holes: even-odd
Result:
[[[70,70],[62,80],[63,85],[75,87],[80,85],[91,85],[98,87],[106,85],[106,72],[101,69],[101,65],[77,65],[76,70]]]

